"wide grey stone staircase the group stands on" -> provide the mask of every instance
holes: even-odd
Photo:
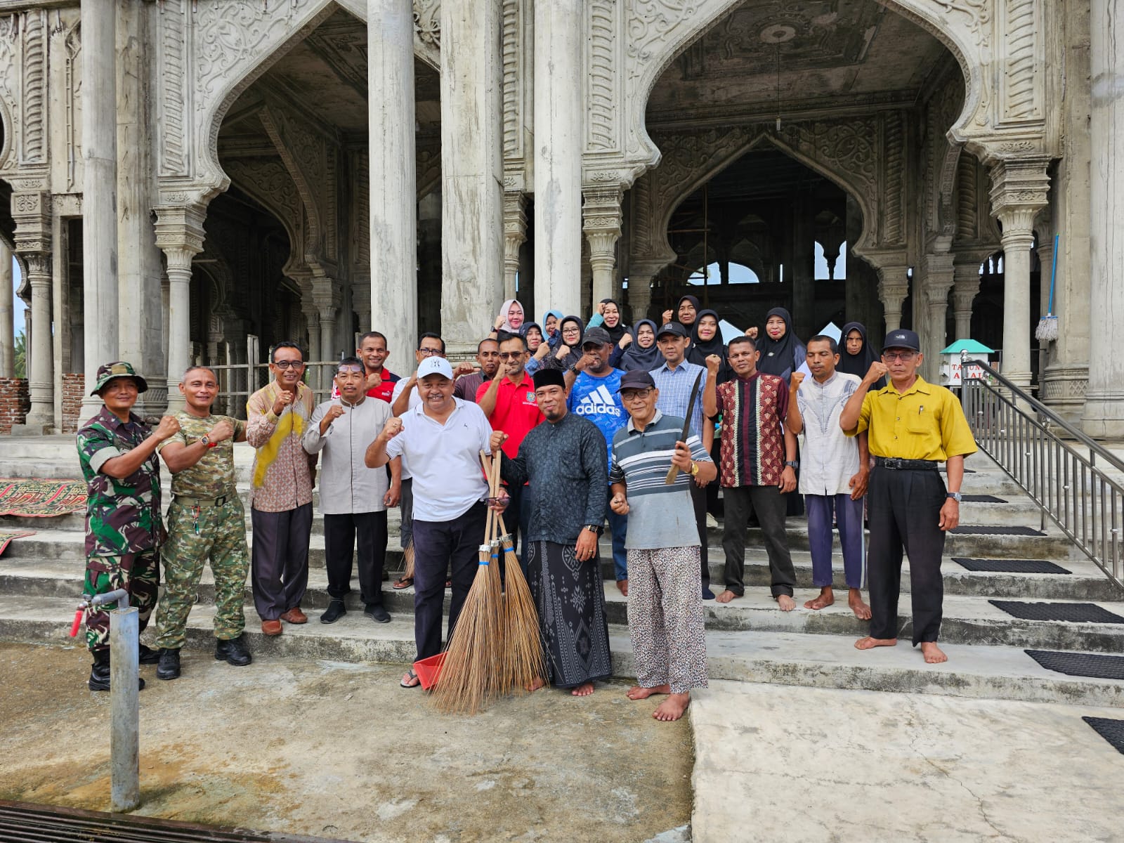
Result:
[[[235,450],[238,488],[245,500],[252,451]],[[988,457],[969,460],[964,478],[967,495],[988,495],[1006,502],[970,502],[961,506],[964,525],[1037,529],[1037,509]],[[0,438],[0,477],[76,477],[78,460],[71,437],[36,439]],[[166,472],[165,472],[166,474]],[[165,488],[167,478],[165,477]],[[248,505],[247,505],[248,509]],[[65,643],[81,591],[83,570],[82,516],[58,518],[0,517],[3,528],[35,529],[36,535],[17,538],[0,558],[0,638]],[[247,518],[247,532],[250,524]],[[398,514],[390,515],[388,566],[400,568]],[[251,543],[253,536],[250,536]],[[895,649],[859,652],[854,640],[865,634],[840,600],[822,611],[803,608],[813,597],[812,563],[804,519],[789,520],[789,541],[796,563],[796,598],[800,608],[780,611],[768,596],[768,563],[759,531],[751,529],[746,553],[746,597],[728,605],[705,604],[710,677],[751,682],[777,682],[808,687],[910,691],[963,697],[1059,701],[1090,706],[1124,705],[1124,682],[1070,677],[1046,670],[1024,650],[1079,653],[1124,653],[1124,624],[1024,620],[1008,615],[989,600],[1094,602],[1124,617],[1124,593],[1091,562],[1079,555],[1057,528],[1044,535],[952,534],[942,566],[945,583],[942,646],[949,662],[926,665],[918,651],[908,646],[909,600],[903,595],[899,618],[905,643]],[[720,531],[710,531],[710,570],[715,583],[723,581]],[[837,551],[837,549],[836,549]],[[609,558],[607,542],[602,560]],[[955,556],[980,559],[1032,559],[1055,562],[1070,573],[988,573],[971,571],[952,561]],[[842,559],[835,566],[842,582]],[[908,563],[907,563],[908,566]],[[625,599],[611,579],[611,563],[602,563],[605,596],[610,623],[614,669],[634,676],[626,625]],[[308,595],[303,601],[311,622],[285,625],[284,634],[266,638],[259,632],[250,586],[246,618],[250,646],[257,658],[299,655],[335,661],[409,662],[414,658],[413,590],[398,592],[383,583],[384,601],[393,619],[374,624],[362,615],[357,589],[348,597],[348,614],[330,626],[317,623],[327,606],[324,571],[323,522],[314,522]],[[903,572],[903,588],[908,575]],[[837,598],[845,590],[836,589]],[[199,604],[189,620],[184,653],[184,679],[192,659],[210,659],[210,615],[214,584],[205,571]],[[196,651],[192,653],[191,651]]]

